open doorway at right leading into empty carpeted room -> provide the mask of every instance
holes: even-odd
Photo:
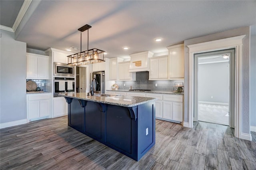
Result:
[[[194,121],[234,128],[235,49],[194,54]]]

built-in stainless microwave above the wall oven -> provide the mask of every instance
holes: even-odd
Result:
[[[54,76],[68,76],[74,77],[74,67],[73,65],[66,65],[63,63],[54,63]]]

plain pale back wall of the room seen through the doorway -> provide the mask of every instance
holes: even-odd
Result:
[[[229,64],[209,63],[198,65],[198,100],[229,102]],[[213,98],[211,98],[213,97]]]

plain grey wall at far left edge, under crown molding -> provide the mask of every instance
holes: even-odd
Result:
[[[14,33],[1,32],[0,123],[26,119],[26,43]]]

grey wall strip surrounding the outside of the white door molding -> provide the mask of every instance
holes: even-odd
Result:
[[[184,41],[184,121],[188,122],[189,48],[187,45],[246,35],[242,50],[242,132],[250,133],[250,27],[228,30]],[[253,65],[256,67],[256,65]]]

